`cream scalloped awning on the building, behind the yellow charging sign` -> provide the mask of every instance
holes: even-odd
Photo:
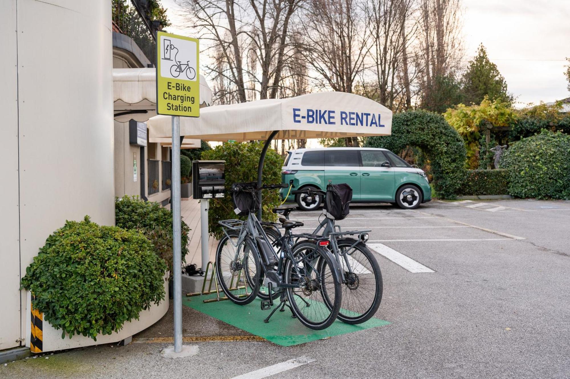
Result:
[[[156,116],[156,68],[113,68],[115,120],[144,122]],[[212,91],[200,75],[200,106],[212,104]]]

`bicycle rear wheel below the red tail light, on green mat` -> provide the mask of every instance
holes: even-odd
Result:
[[[295,261],[288,259],[285,266],[285,283],[297,286],[287,288],[291,309],[304,326],[327,328],[335,322],[341,303],[341,286],[333,275],[332,259],[315,242],[300,242],[292,252]],[[328,304],[323,302],[323,292]]]

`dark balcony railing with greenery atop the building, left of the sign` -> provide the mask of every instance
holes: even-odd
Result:
[[[151,63],[156,61],[156,40],[132,0],[111,0],[113,29],[127,35]]]

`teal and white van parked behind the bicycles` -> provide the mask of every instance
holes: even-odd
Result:
[[[330,180],[348,183],[353,203],[395,203],[414,209],[431,200],[425,172],[386,149],[324,147],[287,153],[281,177],[283,183],[293,180],[295,190],[314,187],[325,191]],[[282,197],[287,191],[281,190]],[[317,209],[323,202],[322,196],[306,194],[289,195],[287,200],[296,201],[304,211]]]

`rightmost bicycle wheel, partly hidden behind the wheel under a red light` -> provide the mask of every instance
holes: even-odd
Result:
[[[336,241],[340,252],[343,253],[339,256],[339,260],[340,269],[344,273],[338,318],[347,324],[367,321],[376,314],[382,301],[380,265],[363,242],[356,242],[353,238]],[[324,300],[328,307],[332,307],[326,292]]]

